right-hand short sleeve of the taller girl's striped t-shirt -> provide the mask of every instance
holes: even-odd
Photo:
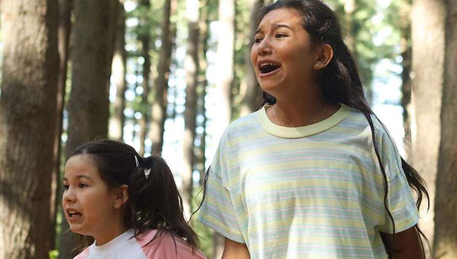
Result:
[[[395,232],[407,230],[419,221],[419,211],[416,207],[412,190],[406,180],[405,172],[402,169],[401,157],[392,137],[385,132],[382,136],[382,162],[387,174],[387,205],[395,223]],[[380,231],[393,233],[392,220],[388,213],[385,213],[385,224]]]

